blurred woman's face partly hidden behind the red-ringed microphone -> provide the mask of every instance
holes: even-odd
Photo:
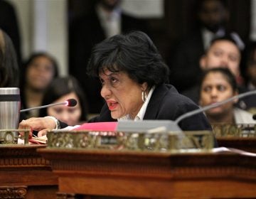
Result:
[[[65,102],[67,99],[76,99],[78,104],[76,104],[75,107],[66,107],[64,105],[48,107],[47,114],[56,117],[69,126],[75,126],[76,124],[79,124],[82,114],[81,105],[78,96],[75,95],[75,92],[70,92],[67,95],[63,95],[63,97],[60,97],[53,103]]]

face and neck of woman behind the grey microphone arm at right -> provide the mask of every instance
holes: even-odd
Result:
[[[223,101],[229,97],[237,95],[237,93],[233,91],[233,87],[230,85],[228,80],[226,80],[226,77],[220,72],[208,73],[208,75],[206,75],[205,79],[203,80],[200,92],[201,97],[199,104],[202,107]],[[206,111],[206,114],[218,115],[229,112],[231,109],[233,109],[233,103],[234,102],[228,102],[219,107],[209,109]]]

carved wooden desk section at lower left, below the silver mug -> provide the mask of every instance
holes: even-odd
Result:
[[[0,198],[56,198],[58,178],[42,145],[0,145]]]

